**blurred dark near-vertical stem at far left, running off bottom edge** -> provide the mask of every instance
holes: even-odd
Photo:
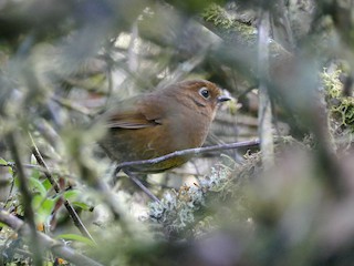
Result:
[[[20,153],[15,144],[17,140],[15,140],[14,133],[7,135],[7,143],[9,145],[9,150],[11,151],[12,157],[17,165],[15,172],[20,183],[19,188],[22,196],[24,217],[28,221],[28,235],[30,237],[30,243],[31,243],[30,249],[33,254],[33,264],[37,266],[40,266],[40,265],[43,265],[42,246],[41,246],[41,243],[39,242],[39,236],[38,236],[37,226],[34,222],[34,213],[31,206],[32,195],[29,191],[28,177],[25,176],[24,170],[22,167]]]

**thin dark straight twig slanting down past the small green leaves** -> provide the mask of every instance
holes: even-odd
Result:
[[[59,184],[56,183],[56,181],[53,178],[53,176],[51,175],[49,167],[46,166],[45,161],[43,160],[40,151],[38,150],[32,136],[30,135],[31,140],[32,140],[32,153],[37,160],[37,162],[44,168],[46,170],[46,172],[44,172],[45,177],[48,178],[48,181],[52,184],[53,188],[55,190],[56,193],[61,193],[61,188],[59,186]],[[64,201],[64,206],[67,209],[69,215],[71,216],[71,218],[73,219],[75,226],[79,228],[79,231],[81,232],[81,234],[83,234],[85,237],[90,238],[93,243],[95,243],[95,241],[93,239],[93,237],[91,236],[91,234],[88,233],[88,231],[86,229],[85,225],[82,223],[81,218],[79,217],[76,211],[74,209],[74,207],[70,204],[70,202],[67,200]]]

